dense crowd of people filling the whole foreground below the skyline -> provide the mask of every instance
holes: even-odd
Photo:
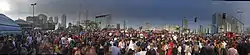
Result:
[[[119,35],[105,32],[27,32],[0,37],[0,54],[65,55],[249,55],[247,36]]]

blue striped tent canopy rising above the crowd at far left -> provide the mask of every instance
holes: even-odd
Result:
[[[9,17],[0,14],[0,34],[14,34],[19,33],[21,28]]]

